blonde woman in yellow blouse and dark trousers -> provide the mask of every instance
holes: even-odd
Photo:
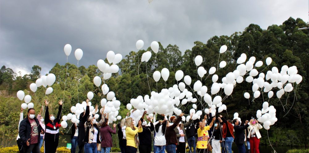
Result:
[[[143,132],[142,122],[138,121],[138,127],[134,126],[133,118],[125,120],[125,135],[127,139],[126,153],[136,153],[139,145],[138,133]]]

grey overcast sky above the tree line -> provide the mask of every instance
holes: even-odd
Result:
[[[0,65],[16,73],[42,74],[66,63],[63,47],[83,50],[79,66],[104,59],[109,50],[136,51],[137,40],[147,49],[152,41],[176,44],[184,52],[198,40],[230,36],[250,23],[266,29],[290,16],[308,21],[305,0],[0,0]]]

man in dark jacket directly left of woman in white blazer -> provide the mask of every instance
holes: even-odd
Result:
[[[244,145],[244,141],[245,141],[245,133],[243,132],[243,130],[247,129],[248,126],[252,123],[252,119],[250,120],[250,122],[248,123],[248,120],[245,122],[246,125],[241,125],[239,126],[239,121],[238,119],[234,119],[233,120],[233,124],[234,124],[234,131],[235,131],[235,139],[234,142],[236,143],[237,147],[238,147],[238,152],[239,153],[246,153],[246,148]],[[248,123],[248,124],[247,124]]]

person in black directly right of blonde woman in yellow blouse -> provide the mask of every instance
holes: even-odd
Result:
[[[141,117],[143,131],[138,134],[138,138],[140,140],[140,144],[138,146],[138,149],[139,149],[140,152],[150,153],[151,152],[151,143],[152,143],[151,132],[155,130],[155,126],[153,125],[150,117],[147,118],[150,126],[147,125],[147,122],[143,119],[145,114],[146,114],[146,111],[143,113],[143,115]]]

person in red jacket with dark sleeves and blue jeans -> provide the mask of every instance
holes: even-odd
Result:
[[[232,143],[234,142],[234,126],[231,124],[230,120],[227,121],[222,115],[218,117],[220,124],[223,125],[222,127],[222,137],[225,140],[225,147],[227,153],[232,153]]]

